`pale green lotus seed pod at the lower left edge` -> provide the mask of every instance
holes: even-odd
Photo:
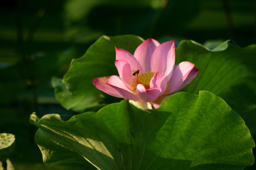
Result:
[[[14,150],[15,136],[9,133],[0,133],[0,161],[5,162]]]

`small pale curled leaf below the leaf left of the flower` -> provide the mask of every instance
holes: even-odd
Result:
[[[84,111],[97,111],[100,107],[104,106],[104,104],[102,104],[104,100],[99,97],[92,95],[82,97],[72,96],[66,89],[65,84],[60,82],[59,78],[52,78],[52,87],[54,88],[56,99],[60,102],[61,106],[67,110],[71,109],[81,113]]]

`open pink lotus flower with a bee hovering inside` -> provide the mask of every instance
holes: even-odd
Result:
[[[197,75],[195,64],[175,62],[174,40],[159,44],[148,39],[134,55],[116,48],[116,68],[119,76],[92,79],[96,88],[124,99],[133,100],[141,107],[158,108],[171,93],[188,85]]]

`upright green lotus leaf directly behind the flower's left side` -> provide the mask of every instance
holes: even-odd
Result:
[[[134,53],[144,40],[135,35],[117,37],[100,37],[86,51],[83,57],[72,60],[70,68],[63,80],[68,91],[74,96],[102,93],[92,83],[93,78],[118,75],[115,67],[116,50],[122,48]]]

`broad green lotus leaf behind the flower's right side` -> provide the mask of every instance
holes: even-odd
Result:
[[[194,41],[181,41],[175,63],[189,61],[199,69],[196,78],[182,91],[206,90],[223,98],[234,110],[256,107],[256,46],[237,47],[226,41],[210,51]]]

